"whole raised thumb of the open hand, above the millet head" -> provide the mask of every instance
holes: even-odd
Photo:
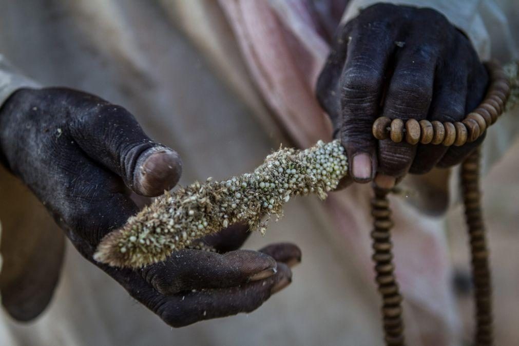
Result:
[[[139,195],[155,197],[173,188],[182,174],[179,154],[149,139],[126,109],[97,104],[71,124],[81,149]]]

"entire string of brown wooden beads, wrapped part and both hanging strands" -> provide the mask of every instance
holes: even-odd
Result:
[[[378,140],[390,139],[393,142],[405,141],[411,145],[432,144],[461,146],[476,141],[485,130],[497,121],[503,113],[510,95],[510,82],[499,64],[486,63],[490,75],[490,86],[483,102],[457,122],[440,122],[379,117],[373,123],[373,135]],[[461,185],[465,216],[468,225],[471,249],[472,280],[475,300],[475,345],[493,344],[491,279],[488,265],[488,251],[485,240],[485,227],[481,210],[479,189],[480,148],[477,148],[461,164]],[[389,190],[374,186],[375,198],[372,200],[374,230],[373,260],[375,262],[376,282],[383,300],[382,314],[385,340],[387,345],[404,345],[402,321],[402,296],[394,276],[392,264],[391,227],[387,194]]]

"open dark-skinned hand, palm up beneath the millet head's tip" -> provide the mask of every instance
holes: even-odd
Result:
[[[291,282],[289,266],[301,258],[292,244],[236,250],[249,232],[234,225],[206,239],[216,253],[182,250],[139,270],[95,262],[103,236],[138,212],[129,192],[161,195],[182,171],[175,151],[150,140],[127,110],[97,96],[19,89],[0,109],[0,149],[7,168],[77,250],[171,326],[258,308]]]

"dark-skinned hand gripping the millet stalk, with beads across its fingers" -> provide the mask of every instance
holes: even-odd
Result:
[[[428,8],[375,4],[340,28],[317,84],[346,148],[354,181],[391,186],[407,172],[460,163],[460,147],[377,141],[379,116],[460,121],[483,99],[488,75],[469,39]]]

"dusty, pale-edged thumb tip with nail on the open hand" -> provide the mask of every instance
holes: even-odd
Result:
[[[135,170],[138,175],[136,190],[148,197],[159,196],[164,190],[173,188],[182,174],[182,161],[176,151],[169,148],[154,150]]]

